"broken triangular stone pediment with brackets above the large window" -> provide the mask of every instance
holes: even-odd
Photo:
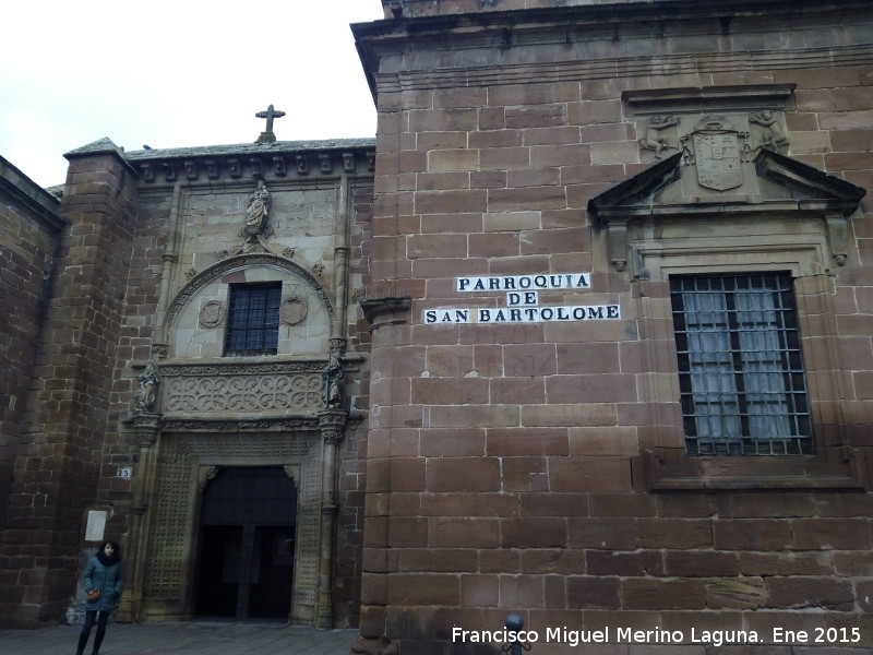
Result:
[[[768,148],[761,148],[749,162],[737,159],[721,179],[717,169],[702,175],[699,153],[711,143],[699,145],[689,145],[588,202],[595,225],[606,229],[609,260],[615,270],[623,271],[627,263],[634,226],[659,221],[686,221],[690,225],[693,219],[727,224],[740,218],[812,218],[821,225],[834,262],[845,263],[848,219],[858,210],[864,189]],[[690,154],[691,147],[695,152]],[[726,186],[730,188],[717,188]],[[718,236],[718,229],[707,231]]]

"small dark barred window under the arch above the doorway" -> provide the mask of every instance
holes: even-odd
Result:
[[[275,355],[282,283],[231,284],[225,355]]]

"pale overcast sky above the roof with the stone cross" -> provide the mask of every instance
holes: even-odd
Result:
[[[0,155],[44,187],[63,153],[373,136],[349,23],[380,0],[41,0],[3,7]]]

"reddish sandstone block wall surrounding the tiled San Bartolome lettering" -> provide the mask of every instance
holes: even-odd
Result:
[[[433,17],[447,3],[427,5]],[[379,104],[370,291],[410,299],[405,324],[374,323],[362,636],[384,634],[400,653],[490,652],[452,643],[453,627],[495,630],[518,612],[540,634],[627,624],[761,634],[743,653],[789,652],[773,645],[778,627],[850,627],[862,641],[829,646],[870,643],[871,571],[859,564],[873,507],[869,196],[851,217],[849,261],[829,269],[833,289],[803,300],[804,354],[830,362],[827,378],[811,371],[830,380],[811,390],[813,403],[832,398],[816,406],[820,448],[838,439],[859,452],[866,491],[651,491],[644,451],[681,434],[667,289],[615,271],[586,213],[651,166],[623,99],[651,90],[796,85],[788,155],[871,188],[873,16],[854,3],[851,20],[791,19],[786,7],[760,3],[761,15],[729,26],[666,11],[655,29],[629,3],[615,10],[621,25],[519,11],[500,29],[475,16],[358,32]],[[422,320],[429,308],[505,302],[462,297],[458,276],[570,271],[590,272],[590,289],[543,291],[541,302],[614,302],[621,320]],[[822,288],[798,285],[801,296]],[[642,652],[602,648],[535,644]]]

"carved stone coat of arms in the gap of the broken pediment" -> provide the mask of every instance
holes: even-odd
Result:
[[[686,164],[697,168],[701,187],[727,191],[743,183],[743,153],[749,132],[741,132],[723,116],[704,116],[694,130],[683,134]]]

